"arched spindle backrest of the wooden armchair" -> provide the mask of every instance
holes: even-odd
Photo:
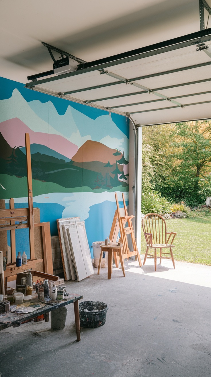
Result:
[[[142,227],[147,244],[150,244],[152,234],[152,244],[166,244],[166,222],[158,213],[147,213],[142,219]]]

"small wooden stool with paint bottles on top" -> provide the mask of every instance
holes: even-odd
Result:
[[[120,246],[118,246],[117,244],[111,244],[108,246],[100,245],[100,247],[101,247],[101,253],[100,253],[99,267],[98,267],[97,274],[99,275],[100,273],[101,262],[103,258],[103,251],[108,251],[108,279],[111,279],[111,274],[112,274],[113,252],[119,254],[121,268],[123,271],[123,275],[125,277],[124,261],[123,261],[123,256],[122,256],[123,244],[121,244]]]

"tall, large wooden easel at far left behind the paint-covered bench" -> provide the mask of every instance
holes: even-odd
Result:
[[[7,264],[4,271],[5,280],[9,276],[14,276],[26,269],[33,268],[36,270],[36,264],[44,262],[44,272],[53,275],[52,248],[50,238],[50,223],[34,223],[33,193],[32,193],[32,167],[30,153],[29,134],[25,134],[26,143],[26,162],[27,162],[27,187],[28,187],[28,208],[15,208],[14,199],[9,201],[9,209],[0,209],[0,231],[10,230],[11,233],[11,263]],[[38,210],[38,208],[37,208]],[[16,224],[15,224],[16,222]],[[17,224],[18,222],[18,224]],[[43,258],[35,257],[34,228],[41,228],[41,243],[43,244]],[[27,259],[27,265],[16,267],[15,252],[15,230],[19,228],[29,228],[29,247],[30,259]]]

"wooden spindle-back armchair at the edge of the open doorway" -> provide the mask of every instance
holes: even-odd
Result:
[[[175,260],[172,253],[173,241],[175,239],[175,232],[167,232],[166,222],[158,213],[147,213],[142,219],[142,227],[146,239],[147,250],[144,256],[144,263],[147,258],[155,259],[155,271],[157,266],[157,249],[160,249],[160,264],[161,259],[172,259],[175,268]],[[173,235],[173,237],[172,237]],[[172,237],[172,240],[170,240]],[[171,243],[169,243],[171,241]],[[149,248],[154,249],[155,254],[148,254]],[[170,253],[162,252],[162,248],[170,248]],[[162,257],[162,254],[170,255],[170,257]],[[149,256],[148,256],[149,255]]]

